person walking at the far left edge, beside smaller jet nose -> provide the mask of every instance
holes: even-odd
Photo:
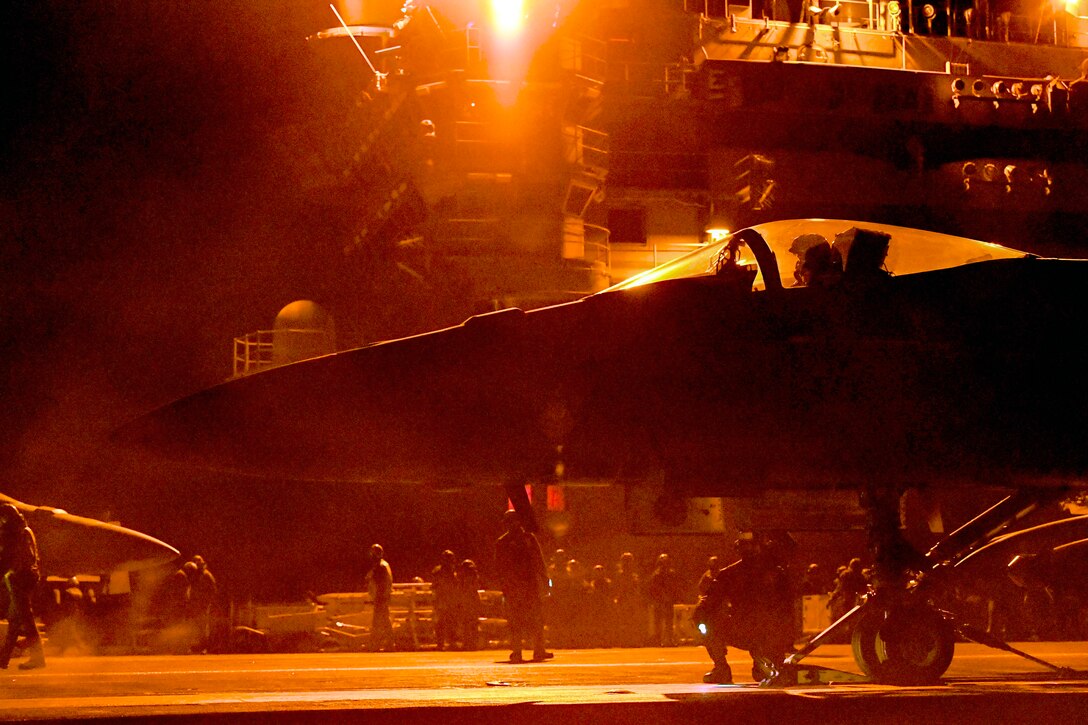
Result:
[[[30,606],[34,589],[41,578],[38,542],[18,509],[7,503],[0,504],[0,570],[8,590],[8,636],[0,649],[0,669],[8,668],[20,636],[26,638],[29,659],[20,663],[18,668],[45,667],[46,655]]]

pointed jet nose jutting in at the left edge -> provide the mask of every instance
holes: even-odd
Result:
[[[61,508],[33,506],[0,494],[26,517],[41,555],[42,574],[70,578],[81,574],[138,572],[174,561],[176,549],[146,533]]]

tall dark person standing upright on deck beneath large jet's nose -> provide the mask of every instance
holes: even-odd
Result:
[[[544,647],[544,555],[517,512],[506,512],[503,524],[506,532],[495,543],[495,566],[510,628],[510,662],[524,662],[521,650],[527,640],[532,642],[533,660],[551,659],[552,653]]]

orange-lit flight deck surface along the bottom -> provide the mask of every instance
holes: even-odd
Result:
[[[559,650],[511,665],[477,652],[53,658],[45,669],[5,673],[0,718],[125,722],[552,723],[1084,722],[1088,643],[1018,644],[1073,676],[977,644],[960,643],[945,678],[889,687],[857,677],[849,646],[820,648],[807,664],[830,684],[761,688],[731,650],[735,685],[704,685],[702,648]],[[832,678],[833,679],[833,678]]]

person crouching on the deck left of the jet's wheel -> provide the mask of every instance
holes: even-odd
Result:
[[[783,684],[786,654],[793,644],[793,599],[786,569],[752,539],[737,541],[737,561],[718,573],[695,606],[704,644],[714,668],[706,683],[732,681],[726,660],[729,646],[752,655],[752,677]]]

